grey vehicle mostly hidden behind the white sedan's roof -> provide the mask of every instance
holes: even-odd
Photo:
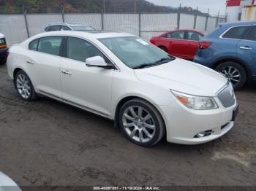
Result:
[[[53,23],[45,26],[44,31],[94,31],[95,28],[87,24]]]

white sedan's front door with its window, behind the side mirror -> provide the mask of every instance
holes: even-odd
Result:
[[[86,66],[86,59],[97,55],[105,58],[90,42],[67,38],[67,58],[61,60],[63,97],[71,104],[109,117],[113,70]]]

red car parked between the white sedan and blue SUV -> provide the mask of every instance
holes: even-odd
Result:
[[[152,37],[150,42],[170,55],[193,60],[199,41],[203,36],[202,33],[195,30],[175,30]]]

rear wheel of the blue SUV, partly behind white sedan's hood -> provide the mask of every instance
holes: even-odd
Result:
[[[246,71],[244,68],[234,62],[221,63],[215,69],[232,83],[235,90],[240,89],[246,82]]]

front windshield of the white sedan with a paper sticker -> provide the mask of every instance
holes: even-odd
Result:
[[[132,69],[155,66],[175,59],[137,36],[105,38],[99,41]]]

